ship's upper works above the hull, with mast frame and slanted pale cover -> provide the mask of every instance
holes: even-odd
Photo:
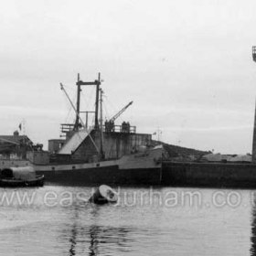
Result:
[[[102,90],[101,90],[101,74],[98,80],[82,81],[78,75],[77,81],[77,104],[70,101],[68,93],[61,84],[61,89],[67,95],[71,106],[76,112],[75,123],[62,123],[61,132],[64,133],[65,141],[54,140],[49,141],[49,152],[53,155],[53,161],[74,161],[74,162],[94,162],[118,159],[123,155],[133,154],[142,147],[148,147],[152,141],[152,135],[146,133],[136,133],[136,127],[129,122],[123,122],[116,125],[116,119],[132,105],[133,101],[123,107],[120,112],[112,116],[110,120],[102,122]],[[95,86],[95,110],[94,112],[85,112],[86,121],[80,118],[80,91],[81,86]],[[100,112],[100,114],[99,114]],[[94,114],[94,126],[88,127],[88,115]],[[59,145],[60,144],[60,145]],[[58,148],[58,152],[56,152]]]

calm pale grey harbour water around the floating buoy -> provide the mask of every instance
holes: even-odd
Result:
[[[115,187],[96,206],[91,189],[2,188],[0,255],[256,255],[253,190]]]

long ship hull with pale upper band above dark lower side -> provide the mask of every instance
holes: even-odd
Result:
[[[45,176],[46,184],[87,185],[160,185],[162,179],[161,146],[145,152],[123,155],[120,159],[95,163],[35,165],[28,162],[1,162],[7,165],[32,165],[37,175]]]

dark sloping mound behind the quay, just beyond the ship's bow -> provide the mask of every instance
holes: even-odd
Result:
[[[165,144],[153,141],[156,144],[163,144],[165,150],[165,160],[176,161],[198,161],[203,155],[211,153],[210,151],[202,151],[193,148],[182,147],[173,144]]]

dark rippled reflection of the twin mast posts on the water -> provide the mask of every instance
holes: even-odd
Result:
[[[91,211],[92,218],[95,218],[92,219],[92,222],[95,224],[83,226],[79,224],[79,208],[75,208],[75,218],[69,238],[69,256],[80,255],[79,251],[84,250],[84,248],[87,249],[86,251],[90,256],[109,255],[113,251],[132,250],[131,243],[133,240],[129,238],[129,232],[132,229],[96,224],[99,209],[97,207]]]

